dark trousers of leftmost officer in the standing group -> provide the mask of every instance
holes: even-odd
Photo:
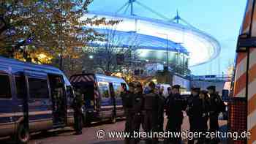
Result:
[[[124,127],[124,132],[130,132],[132,134],[132,121],[133,121],[133,113],[128,113],[126,114],[126,121],[125,121],[125,127]],[[126,144],[131,143],[131,138],[125,137],[124,142]]]

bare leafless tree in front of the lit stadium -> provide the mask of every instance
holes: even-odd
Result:
[[[99,33],[104,34],[105,39],[93,42],[91,48],[86,48],[87,58],[83,64],[85,72],[93,70],[110,74],[135,66],[136,61],[139,61],[136,52],[140,47],[139,34],[130,31],[127,36],[127,32],[117,31],[116,25],[101,29]]]

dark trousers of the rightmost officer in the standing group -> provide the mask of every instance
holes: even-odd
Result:
[[[219,113],[211,114],[210,115],[210,132],[217,132],[219,131]],[[213,143],[218,143],[219,138],[215,137],[212,139]]]

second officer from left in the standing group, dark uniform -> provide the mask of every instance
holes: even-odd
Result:
[[[132,131],[139,132],[140,125],[143,124],[143,104],[144,104],[144,96],[143,96],[143,86],[141,83],[135,83],[135,97],[133,99],[133,111],[134,116],[132,119]],[[133,138],[132,143],[139,143],[140,140],[138,138]]]

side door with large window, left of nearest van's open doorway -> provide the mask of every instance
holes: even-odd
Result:
[[[53,127],[53,110],[46,73],[26,71],[28,86],[29,129],[31,132]]]

